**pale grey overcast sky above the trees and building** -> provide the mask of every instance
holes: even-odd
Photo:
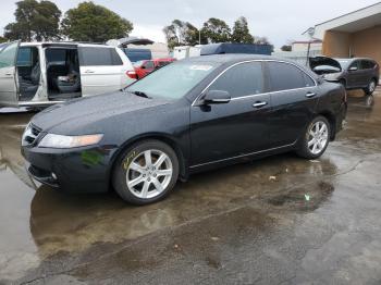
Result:
[[[83,0],[51,0],[64,13]],[[15,2],[1,0],[0,33],[14,21]],[[275,47],[305,39],[302,33],[321,22],[377,3],[374,0],[93,0],[134,24],[131,36],[164,42],[162,28],[179,18],[201,27],[209,17],[230,26],[239,16],[248,21],[250,33],[265,36]]]

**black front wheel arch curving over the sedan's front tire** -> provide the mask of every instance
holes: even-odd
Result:
[[[187,163],[186,163],[186,159],[184,156],[184,151],[179,146],[179,142],[176,142],[176,140],[174,138],[170,137],[167,134],[151,133],[151,134],[139,135],[139,136],[136,136],[136,137],[128,139],[115,151],[115,153],[113,153],[113,156],[111,158],[111,162],[110,162],[111,168],[109,169],[109,181],[110,182],[111,182],[111,177],[112,177],[112,172],[115,168],[115,162],[116,162],[118,158],[121,156],[121,153],[123,153],[123,151],[125,151],[127,148],[132,147],[133,145],[135,145],[139,141],[149,140],[149,139],[162,141],[162,142],[167,144],[168,146],[170,146],[174,150],[174,152],[176,153],[177,159],[179,159],[179,166],[180,166],[180,170],[179,170],[180,177],[179,178],[182,181],[187,179],[187,177],[188,177]]]

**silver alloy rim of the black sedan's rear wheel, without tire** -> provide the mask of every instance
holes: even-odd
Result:
[[[308,149],[312,154],[319,154],[328,144],[328,126],[318,121],[308,131]]]

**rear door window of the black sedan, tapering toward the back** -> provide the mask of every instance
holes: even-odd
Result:
[[[315,82],[298,67],[283,62],[268,62],[270,91],[315,86]]]

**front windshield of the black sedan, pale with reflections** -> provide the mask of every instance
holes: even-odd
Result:
[[[214,69],[214,63],[177,62],[162,67],[131,85],[126,91],[151,98],[180,99]]]

